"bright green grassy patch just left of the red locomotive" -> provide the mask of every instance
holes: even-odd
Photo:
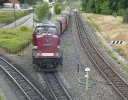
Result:
[[[23,26],[24,27],[24,26]],[[33,29],[0,29],[0,46],[10,50],[12,54],[27,46],[28,41],[32,41]]]

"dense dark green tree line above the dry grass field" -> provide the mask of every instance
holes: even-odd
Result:
[[[82,10],[86,13],[123,16],[124,22],[128,22],[127,0],[82,0]]]

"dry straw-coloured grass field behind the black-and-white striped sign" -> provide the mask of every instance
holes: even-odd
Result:
[[[117,48],[120,44],[115,44],[113,47],[128,60],[128,24],[122,23],[122,17],[117,16],[115,19],[112,15],[104,16],[92,13],[82,13],[82,16],[87,22],[90,22],[91,19],[106,41],[124,41],[122,44],[124,50],[121,51],[121,48]]]

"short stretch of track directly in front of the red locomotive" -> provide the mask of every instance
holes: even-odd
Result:
[[[72,100],[61,82],[55,75],[55,72],[44,72],[46,83],[55,100]]]

